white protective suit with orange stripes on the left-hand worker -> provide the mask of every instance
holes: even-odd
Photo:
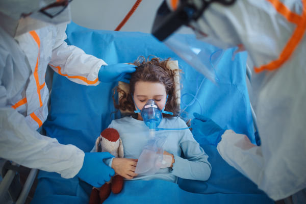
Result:
[[[18,5],[20,10],[14,5],[16,1],[0,3],[0,158],[57,172],[68,179],[82,168],[84,152],[36,131],[48,114],[49,91],[44,79],[47,65],[75,83],[97,85],[100,67],[107,64],[78,47],[68,46],[64,41],[66,24],[55,27],[27,17],[22,19],[28,22],[23,29],[40,28],[15,34],[21,13],[29,12],[28,7],[50,4],[35,2],[25,1],[25,5]],[[66,10],[70,18],[69,6]]]

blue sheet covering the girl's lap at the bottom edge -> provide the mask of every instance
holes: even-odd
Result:
[[[103,203],[273,203],[265,195],[256,194],[195,194],[177,184],[160,181],[125,182],[119,194],[109,196]]]

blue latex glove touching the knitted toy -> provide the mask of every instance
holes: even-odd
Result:
[[[85,153],[83,166],[77,176],[96,188],[101,187],[115,175],[115,170],[103,162],[113,157],[109,152]]]

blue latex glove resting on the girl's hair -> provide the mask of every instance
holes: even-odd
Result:
[[[100,82],[125,82],[130,84],[131,73],[136,71],[132,64],[113,64],[101,66],[98,78]]]

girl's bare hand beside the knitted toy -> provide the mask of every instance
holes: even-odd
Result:
[[[114,158],[112,168],[118,175],[123,176],[125,179],[133,179],[138,174],[135,173],[137,160],[127,158]]]

